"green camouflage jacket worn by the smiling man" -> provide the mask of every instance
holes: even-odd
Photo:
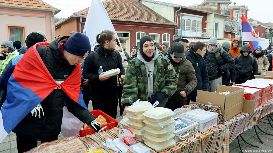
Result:
[[[164,68],[161,58],[164,59]],[[138,66],[140,66],[140,69],[137,74],[136,67]],[[159,54],[155,60],[153,80],[154,93],[164,92],[168,97],[171,97],[177,89],[176,72],[173,69],[173,65],[170,64],[170,60],[162,54]],[[125,73],[121,105],[126,103],[132,105],[137,99],[140,99],[141,101],[148,99],[148,76],[145,64],[138,58],[133,58],[128,63],[127,71]],[[158,106],[165,107],[167,100],[168,99],[164,100]]]

